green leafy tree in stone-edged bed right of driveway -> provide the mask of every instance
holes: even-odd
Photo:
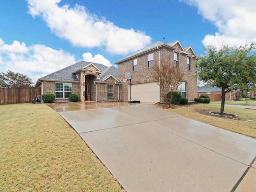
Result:
[[[232,90],[248,90],[256,84],[256,44],[242,46],[210,45],[206,53],[198,58],[198,79],[221,88],[220,113],[224,113],[225,95]]]

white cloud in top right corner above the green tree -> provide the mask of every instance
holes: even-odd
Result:
[[[183,0],[190,6],[198,9],[205,20],[212,22],[218,32],[207,34],[202,40],[204,46],[215,44],[228,45],[244,44],[245,42],[256,42],[256,1],[243,0]]]

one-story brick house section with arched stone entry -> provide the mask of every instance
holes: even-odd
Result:
[[[84,101],[118,101],[118,69],[92,62],[78,62],[62,70],[39,78],[36,87],[42,94],[52,93],[56,102],[69,101],[70,94],[77,94]]]

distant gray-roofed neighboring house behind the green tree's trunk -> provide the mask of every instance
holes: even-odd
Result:
[[[202,87],[198,87],[198,97],[200,95],[209,95],[212,101],[219,101],[221,100],[221,88],[216,86],[212,87],[209,85],[205,85]],[[216,96],[214,96],[216,95]],[[225,100],[235,100],[236,98],[240,98],[241,91],[231,91],[226,93]],[[216,98],[216,99],[213,99]]]

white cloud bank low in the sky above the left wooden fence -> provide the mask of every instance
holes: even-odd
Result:
[[[74,55],[62,49],[54,50],[40,44],[27,47],[25,43],[18,41],[9,45],[0,39],[1,42],[1,72],[20,72],[28,75],[34,82],[41,76],[40,74],[50,74],[76,63]]]

